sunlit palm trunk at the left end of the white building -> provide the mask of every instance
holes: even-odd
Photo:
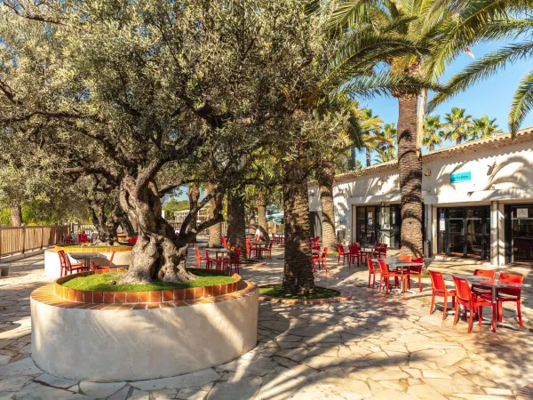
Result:
[[[316,172],[320,190],[320,204],[322,206],[322,246],[333,251],[337,245],[337,236],[335,236],[335,207],[333,205],[335,164],[330,161],[322,161],[318,164]]]

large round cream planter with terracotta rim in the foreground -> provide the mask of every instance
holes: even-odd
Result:
[[[148,380],[225,364],[257,343],[257,285],[237,279],[101,299],[56,280],[31,294],[32,357],[73,380]]]

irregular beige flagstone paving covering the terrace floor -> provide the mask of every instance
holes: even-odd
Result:
[[[282,249],[276,249],[273,260],[244,266],[241,274],[258,284],[278,283],[282,262]],[[512,399],[533,382],[530,288],[522,292],[522,331],[499,328],[494,334],[474,324],[468,334],[465,322],[454,327],[453,316],[442,321],[439,300],[429,315],[428,279],[423,292],[385,295],[366,287],[366,268],[338,266],[333,259],[317,283],[352,300],[314,306],[260,302],[258,346],[230,363],[159,380],[67,380],[41,371],[30,357],[29,294],[48,282],[44,257],[13,264],[18,268],[0,279],[0,400]],[[432,268],[475,266],[434,261]],[[531,283],[529,269],[517,272]],[[505,321],[513,322],[513,306],[505,307]]]

